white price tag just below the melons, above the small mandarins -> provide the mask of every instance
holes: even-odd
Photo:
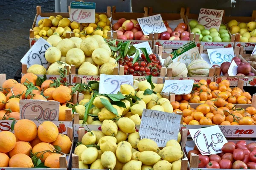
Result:
[[[163,85],[162,93],[190,94],[194,80],[166,80]]]

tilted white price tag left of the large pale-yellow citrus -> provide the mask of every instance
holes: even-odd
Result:
[[[44,40],[44,38],[39,38],[20,62],[22,62],[22,64],[26,64],[28,68],[34,64],[43,65],[44,68],[48,68],[50,63],[45,59],[44,54],[49,47],[52,47],[52,45]]]

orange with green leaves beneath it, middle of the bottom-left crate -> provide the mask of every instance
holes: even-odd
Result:
[[[38,158],[40,158],[40,160],[41,160],[42,162],[44,162],[45,159],[47,159],[48,156],[50,156],[50,155],[52,155],[52,154],[55,154],[55,153],[52,153],[52,152],[50,152],[50,151],[44,152],[44,151],[46,151],[46,150],[50,150],[50,151],[53,152],[53,151],[54,151],[54,147],[52,146],[52,144],[49,144],[49,143],[46,143],[46,142],[41,142],[41,143],[39,143],[39,144],[37,144],[37,145],[35,145],[35,146],[33,147],[32,153],[33,153],[33,154],[37,153],[36,156],[37,156]],[[42,155],[43,155],[43,156],[42,156]]]

